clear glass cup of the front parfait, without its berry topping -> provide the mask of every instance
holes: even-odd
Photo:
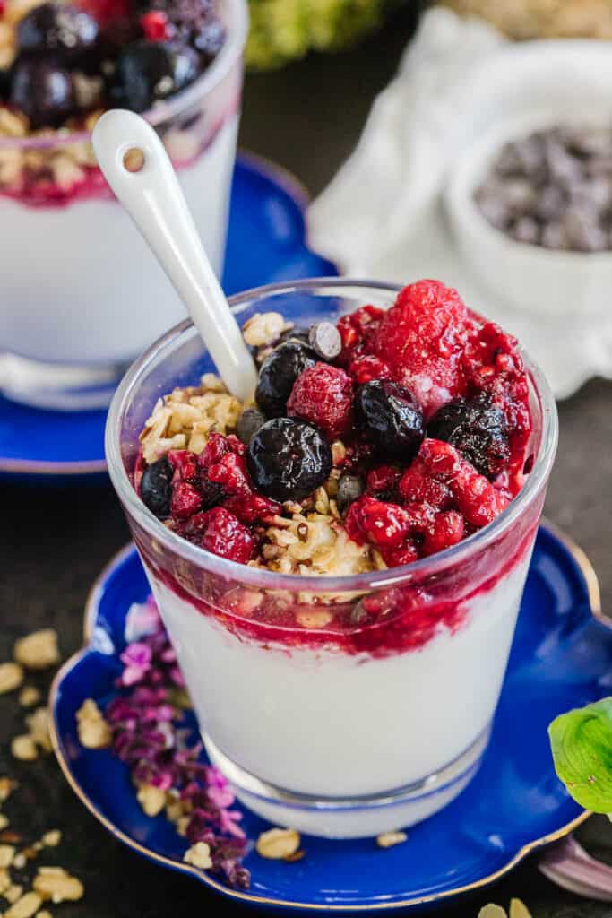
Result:
[[[231,305],[240,322],[275,310],[306,326],[364,303],[389,307],[397,290],[309,280],[251,290]],[[119,386],[106,428],[113,484],[208,755],[270,822],[331,837],[378,834],[437,812],[473,778],[557,444],[551,390],[525,360],[533,468],[517,498],[440,554],[351,577],[235,564],[187,543],[140,501],[131,475],[150,410],[213,369],[189,322],[152,345]],[[378,610],[375,624],[362,623],[364,603]],[[275,623],[287,609],[291,627]],[[350,622],[341,630],[330,614],[339,610]]]

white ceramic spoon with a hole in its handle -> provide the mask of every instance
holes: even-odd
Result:
[[[161,140],[144,118],[116,109],[100,118],[92,141],[108,185],[168,274],[218,374],[232,395],[240,400],[252,397],[257,381],[252,357],[208,261]],[[124,164],[129,150],[143,154],[138,172],[128,171]],[[206,195],[206,188],[202,194]]]

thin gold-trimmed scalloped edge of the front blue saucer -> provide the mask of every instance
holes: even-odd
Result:
[[[598,621],[600,624],[605,625],[607,628],[612,628],[612,622],[607,620],[601,611],[600,603],[600,592],[599,584],[597,577],[595,575],[595,570],[591,565],[587,555],[584,551],[573,542],[564,532],[562,532],[558,527],[552,524],[550,521],[542,520],[540,521],[540,528],[547,532],[553,539],[557,540],[562,544],[562,547],[570,554],[575,562],[578,570],[580,571],[581,576],[584,579],[584,585],[586,587],[586,592],[588,595],[589,609],[591,616],[595,621]],[[591,812],[584,811],[579,813],[579,815],[573,819],[570,823],[564,824],[560,829],[540,836],[539,838],[533,839],[531,842],[523,845],[519,848],[513,856],[511,856],[506,864],[495,870],[494,873],[487,875],[486,877],[473,880],[473,882],[466,884],[465,886],[456,887],[451,890],[443,890],[442,892],[432,893],[427,896],[421,896],[413,899],[408,899],[404,901],[394,901],[394,902],[379,902],[379,903],[368,903],[368,904],[333,904],[333,903],[310,903],[310,902],[288,902],[282,900],[271,899],[264,896],[253,895],[249,892],[241,892],[239,890],[231,890],[223,883],[218,882],[214,877],[193,868],[190,865],[182,864],[181,862],[167,857],[164,855],[157,854],[155,851],[152,851],[150,848],[147,848],[144,845],[140,845],[138,841],[133,839],[128,834],[125,834],[122,830],[118,829],[117,826],[110,822],[106,816],[100,812],[95,803],[89,799],[86,792],[83,790],[81,785],[78,783],[77,779],[73,777],[72,770],[69,765],[68,756],[64,754],[63,743],[61,736],[57,729],[57,722],[55,717],[55,711],[59,704],[60,695],[61,695],[61,685],[65,677],[67,677],[75,666],[78,666],[83,659],[90,654],[94,654],[95,650],[91,647],[91,639],[94,633],[95,621],[97,616],[97,608],[99,604],[100,595],[104,592],[106,588],[107,579],[113,574],[114,570],[118,565],[121,565],[129,554],[134,550],[134,545],[128,543],[123,549],[121,549],[113,558],[105,565],[103,570],[100,572],[99,576],[96,578],[95,583],[93,584],[88,597],[85,602],[84,607],[84,621],[83,621],[83,647],[72,655],[58,671],[56,676],[53,679],[50,696],[49,696],[49,711],[50,711],[50,735],[51,742],[53,745],[53,751],[61,767],[61,771],[68,781],[70,787],[76,794],[76,796],[83,802],[83,805],[91,812],[95,818],[102,823],[105,828],[117,838],[118,841],[122,842],[124,845],[127,845],[128,848],[135,851],[141,856],[147,857],[150,861],[158,863],[161,866],[166,868],[171,868],[180,873],[184,873],[190,876],[195,877],[201,883],[211,890],[214,890],[221,895],[227,897],[231,900],[242,901],[246,904],[249,904],[251,907],[261,908],[263,906],[272,906],[277,911],[292,911],[292,912],[340,912],[345,914],[351,914],[354,912],[390,912],[393,910],[402,910],[409,908],[419,908],[427,907],[428,905],[450,899],[452,897],[462,896],[468,893],[471,893],[476,890],[484,889],[487,886],[495,883],[497,880],[506,876],[511,870],[513,870],[517,865],[524,860],[527,856],[533,854],[535,851],[540,848],[551,845],[552,843],[559,841],[565,835],[572,833],[578,826],[584,823]]]

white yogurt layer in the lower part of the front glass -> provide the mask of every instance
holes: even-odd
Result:
[[[383,658],[263,648],[149,577],[209,752],[226,772],[223,756],[277,789],[346,799],[434,776],[474,746],[463,777],[455,775],[444,788],[432,780],[435,792],[401,808],[319,816],[239,793],[275,822],[349,836],[417,822],[472,777],[506,671],[528,565],[529,557],[477,595],[455,633],[440,628],[423,647]]]

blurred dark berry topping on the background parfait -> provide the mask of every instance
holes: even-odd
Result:
[[[225,40],[212,0],[51,0],[17,21],[5,14],[0,5],[0,106],[30,131],[87,127],[109,107],[146,111],[193,83]]]

